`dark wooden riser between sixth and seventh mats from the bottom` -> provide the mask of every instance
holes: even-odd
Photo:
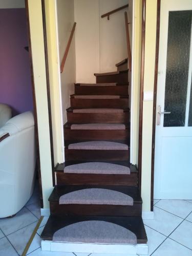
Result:
[[[129,107],[129,98],[120,99],[75,99],[71,98],[72,108],[123,109]]]

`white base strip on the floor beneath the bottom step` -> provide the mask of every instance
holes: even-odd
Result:
[[[76,253],[106,253],[132,256],[137,254],[148,255],[147,244],[95,244],[95,243],[67,243],[41,241],[42,251],[62,251]],[[114,255],[115,256],[115,255]]]

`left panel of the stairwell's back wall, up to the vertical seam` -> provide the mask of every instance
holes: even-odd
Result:
[[[75,0],[76,81],[95,82],[99,73],[99,1]]]

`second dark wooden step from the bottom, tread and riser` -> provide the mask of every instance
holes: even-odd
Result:
[[[80,197],[81,191],[84,193],[90,193],[90,189],[94,189],[94,193],[99,193],[99,189],[101,189],[102,193],[108,191],[109,193],[122,193],[119,194],[123,198],[129,196],[133,199],[133,205],[123,205],[121,204],[121,200],[119,199],[117,204],[110,204],[110,202],[105,204],[105,201],[102,203],[104,195],[100,198],[101,203],[83,203],[85,202],[83,198]],[[81,190],[81,191],[80,191]],[[78,191],[76,194],[77,200],[81,200],[81,204],[77,203],[69,203],[67,204],[59,204],[59,198],[63,195],[67,195],[70,197],[71,192]],[[124,195],[124,196],[123,196]],[[95,195],[96,196],[96,195]],[[110,200],[111,198],[109,198]],[[114,199],[114,198],[112,198]],[[94,197],[92,198],[92,201]],[[129,200],[129,199],[128,199]],[[141,207],[142,207],[142,199],[140,197],[140,193],[137,187],[132,186],[80,186],[80,185],[68,185],[68,186],[55,186],[51,196],[49,197],[50,202],[50,211],[51,215],[56,216],[65,216],[65,215],[104,215],[104,216],[141,216]],[[124,203],[124,202],[123,202]]]

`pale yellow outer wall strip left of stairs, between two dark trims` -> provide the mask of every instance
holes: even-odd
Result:
[[[40,0],[29,0],[28,2],[33,75],[37,106],[42,197],[44,200],[44,208],[48,208],[48,198],[53,186],[42,9]]]

